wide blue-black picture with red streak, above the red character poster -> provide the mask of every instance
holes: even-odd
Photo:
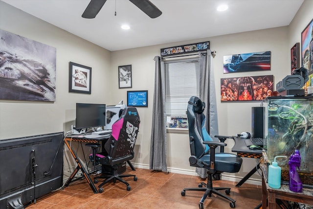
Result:
[[[270,51],[224,56],[224,73],[270,70]]]

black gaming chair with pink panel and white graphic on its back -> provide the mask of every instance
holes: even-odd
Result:
[[[137,181],[135,175],[119,175],[117,170],[121,164],[134,158],[134,144],[138,135],[139,123],[137,109],[127,107],[112,125],[112,135],[104,145],[106,152],[101,153],[104,157],[99,159],[101,164],[111,167],[112,173],[103,173],[100,177],[94,178],[95,184],[98,183],[98,178],[105,178],[104,182],[99,185],[100,193],[103,192],[102,186],[111,180],[113,183],[116,183],[116,180],[124,183],[128,191],[131,190],[131,186],[122,178],[134,177],[134,181]]]

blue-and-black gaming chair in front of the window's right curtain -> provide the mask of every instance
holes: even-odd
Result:
[[[199,208],[203,209],[203,202],[207,197],[211,197],[212,193],[217,194],[230,202],[230,207],[235,208],[235,200],[220,193],[218,190],[225,190],[226,194],[230,194],[230,188],[228,187],[213,187],[212,176],[222,172],[236,173],[240,170],[242,159],[234,154],[224,153],[224,146],[226,139],[233,139],[233,137],[227,136],[215,136],[219,138],[221,142],[213,141],[204,127],[205,116],[203,110],[205,104],[196,96],[192,96],[189,99],[187,107],[187,117],[189,123],[189,140],[191,156],[189,158],[190,166],[201,167],[208,169],[207,171],[207,183],[201,182],[197,188],[184,188],[181,191],[181,196],[185,196],[186,190],[204,191]],[[221,152],[215,153],[215,148],[221,146]],[[202,186],[205,186],[202,188]]]

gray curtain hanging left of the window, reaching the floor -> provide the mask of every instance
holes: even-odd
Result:
[[[167,172],[164,65],[155,56],[155,91],[153,96],[150,169]],[[163,62],[162,62],[163,63]]]

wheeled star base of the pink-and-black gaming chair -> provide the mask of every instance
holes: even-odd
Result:
[[[113,181],[113,183],[115,184],[116,183],[116,180],[117,181],[120,181],[120,182],[122,182],[122,183],[124,183],[125,185],[126,185],[126,190],[127,191],[130,191],[131,190],[131,186],[129,186],[129,184],[128,184],[128,182],[126,182],[124,179],[122,179],[122,178],[125,178],[125,177],[134,177],[134,181],[137,181],[137,177],[136,177],[136,175],[134,175],[134,174],[128,174],[128,175],[118,175],[117,174],[117,170],[113,170],[113,173],[111,173],[111,174],[109,174],[109,175],[101,175],[101,176],[99,176],[99,177],[94,177],[93,178],[93,182],[95,183],[95,184],[97,184],[98,183],[98,179],[105,179],[104,180],[104,182],[102,182],[100,185],[99,185],[99,193],[102,193],[103,192],[103,188],[102,188],[102,186],[103,185],[105,185],[105,184],[107,184],[108,182],[110,182],[110,181]]]

